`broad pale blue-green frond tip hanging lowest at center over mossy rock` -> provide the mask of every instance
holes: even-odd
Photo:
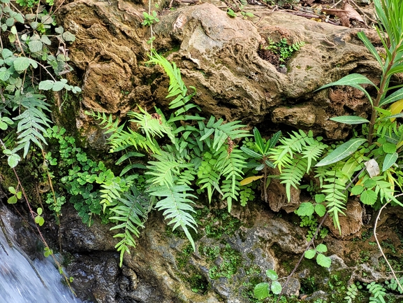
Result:
[[[186,237],[191,242],[193,251],[196,251],[193,238],[189,232],[188,227],[192,228],[195,232],[197,223],[189,212],[196,213],[191,204],[193,201],[189,198],[196,198],[196,196],[189,194],[192,189],[188,185],[173,185],[155,186],[149,188],[149,195],[154,197],[165,197],[156,203],[156,209],[163,211],[163,216],[169,220],[168,225],[173,224],[173,230],[177,227],[182,227]]]

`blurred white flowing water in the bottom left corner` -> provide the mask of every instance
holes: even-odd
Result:
[[[75,298],[68,287],[61,283],[63,276],[52,264],[52,258],[34,260],[17,248],[14,232],[10,227],[13,215],[1,207],[0,216],[4,223],[8,239],[13,242],[14,248],[0,230],[0,302],[1,303],[81,303]],[[33,269],[33,267],[36,269]],[[41,276],[41,279],[37,276]],[[45,284],[45,286],[43,285]]]

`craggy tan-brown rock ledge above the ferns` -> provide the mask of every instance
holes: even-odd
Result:
[[[123,0],[110,3],[79,0],[61,8],[64,27],[76,36],[69,54],[76,68],[71,77],[82,84],[77,125],[93,147],[103,146],[103,138],[85,110],[123,118],[137,105],[166,108],[168,102],[166,77],[145,65],[149,29],[140,25],[145,7]],[[228,17],[210,3],[164,11],[154,26],[154,47],[170,54],[168,59],[177,63],[186,85],[196,87],[194,101],[205,115],[261,123],[265,129],[298,125],[344,139],[348,129],[328,118],[353,112],[365,115],[364,96],[356,90],[329,95],[313,91],[348,73],[376,78],[379,69],[356,37],[358,30],[286,13],[261,13],[255,25]],[[365,31],[369,38],[376,36]],[[258,56],[268,37],[305,41],[285,74]],[[307,111],[309,115],[304,115]]]

